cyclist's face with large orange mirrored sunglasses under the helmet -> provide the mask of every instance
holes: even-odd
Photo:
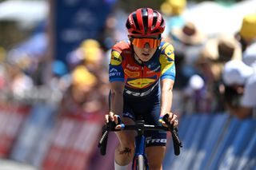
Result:
[[[149,38],[134,37],[132,44],[134,46],[135,55],[141,61],[149,61],[160,45],[160,42],[161,40],[158,39],[158,36],[152,36]]]

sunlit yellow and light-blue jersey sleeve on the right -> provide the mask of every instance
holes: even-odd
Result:
[[[162,51],[159,57],[161,64],[160,80],[169,78],[174,80],[176,75],[174,64],[174,46],[166,42],[162,45]]]

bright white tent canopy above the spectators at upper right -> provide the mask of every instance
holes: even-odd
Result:
[[[243,16],[252,13],[256,13],[256,0],[237,2],[233,6],[201,2],[187,8],[183,17],[211,36],[219,33],[234,34],[240,29]]]

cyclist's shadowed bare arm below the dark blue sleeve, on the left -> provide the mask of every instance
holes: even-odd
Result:
[[[110,112],[121,115],[123,108],[123,91],[125,84],[121,81],[113,81],[110,83],[111,101]]]

